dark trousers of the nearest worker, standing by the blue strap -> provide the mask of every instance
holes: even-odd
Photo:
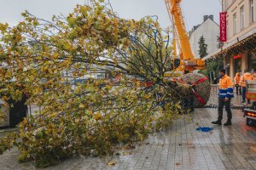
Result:
[[[229,101],[225,102],[224,98],[218,98],[218,121],[221,121],[223,118],[223,107],[225,106],[225,110],[228,114],[228,121],[231,121],[232,119],[232,112],[230,109],[230,103],[231,99]]]

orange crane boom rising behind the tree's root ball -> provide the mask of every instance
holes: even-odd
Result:
[[[205,69],[205,62],[202,59],[195,59],[195,56],[192,54],[189,36],[186,31],[182,9],[180,7],[182,0],[165,0],[165,2],[170,20],[172,20],[173,59],[177,59],[176,46],[179,49],[180,65],[177,67],[177,71],[188,73]]]

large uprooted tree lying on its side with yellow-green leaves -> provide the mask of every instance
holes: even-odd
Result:
[[[169,31],[151,17],[121,19],[108,2],[91,4],[78,5],[67,17],[44,20],[26,11],[17,26],[0,24],[1,97],[26,93],[28,105],[41,107],[3,137],[0,153],[15,144],[20,161],[39,167],[77,154],[105,155],[114,144],[132,144],[183,113],[179,101],[189,87],[164,80]],[[121,74],[118,86],[111,80],[73,86],[74,79],[110,67],[112,75]],[[135,78],[150,86],[138,86]],[[163,107],[157,105],[159,93],[167,101]]]

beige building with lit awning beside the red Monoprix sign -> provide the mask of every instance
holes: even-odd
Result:
[[[256,8],[255,0],[223,0],[227,12],[227,42],[205,60],[223,59],[230,77],[245,69],[256,69]]]

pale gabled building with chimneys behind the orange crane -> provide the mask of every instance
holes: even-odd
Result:
[[[207,44],[207,53],[212,54],[218,49],[219,26],[213,20],[213,15],[205,15],[201,25],[194,26],[189,31],[189,42],[195,58],[199,57],[199,39],[203,36]]]

